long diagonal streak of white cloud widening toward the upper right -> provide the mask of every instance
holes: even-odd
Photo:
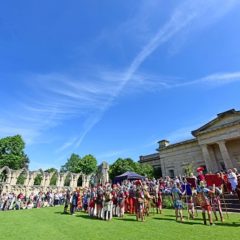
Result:
[[[203,16],[209,14],[209,10],[214,10],[211,15],[214,20],[224,16],[228,13],[234,6],[237,4],[237,1],[230,0],[228,2],[221,1],[221,7],[219,8],[219,1],[210,0],[210,1],[185,1],[182,5],[178,6],[173,14],[171,15],[170,20],[159,28],[155,36],[149,40],[149,42],[143,46],[142,50],[136,55],[136,57],[131,62],[130,66],[127,68],[123,78],[119,79],[119,85],[116,87],[112,96],[104,104],[102,112],[98,117],[96,117],[87,128],[84,134],[80,137],[80,143],[86,134],[94,127],[94,125],[101,120],[103,113],[111,106],[115,98],[121,93],[123,88],[132,80],[136,72],[138,71],[141,64],[148,58],[157,48],[162,44],[170,40],[174,35],[184,30],[187,27],[193,27],[193,22],[202,19]],[[163,83],[164,84],[164,83]],[[79,145],[79,144],[77,144]]]

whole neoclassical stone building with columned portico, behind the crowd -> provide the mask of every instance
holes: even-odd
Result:
[[[193,139],[174,144],[159,141],[157,152],[140,156],[139,162],[161,168],[163,176],[171,177],[184,174],[189,164],[211,172],[240,167],[240,111],[219,113],[192,135]]]

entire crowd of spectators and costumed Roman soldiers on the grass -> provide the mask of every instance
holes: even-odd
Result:
[[[198,169],[199,170],[199,169]],[[84,211],[89,217],[111,220],[124,217],[125,213],[134,214],[137,221],[144,221],[150,211],[162,213],[166,203],[175,209],[176,221],[184,221],[183,209],[188,219],[194,219],[199,206],[204,224],[213,224],[218,216],[224,221],[222,197],[224,192],[237,194],[240,201],[240,175],[237,169],[227,173],[192,173],[189,177],[165,177],[160,179],[124,180],[121,183],[77,188],[74,191],[31,193],[1,193],[1,210],[32,209],[64,205],[64,213],[75,215]]]

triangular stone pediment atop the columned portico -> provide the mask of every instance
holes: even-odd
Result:
[[[226,126],[231,126],[237,123],[240,123],[240,111],[231,109],[229,111],[219,113],[217,117],[214,118],[212,121],[192,131],[192,135],[196,137],[201,133],[209,132]]]

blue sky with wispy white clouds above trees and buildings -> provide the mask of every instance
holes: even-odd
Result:
[[[240,107],[238,0],[5,1],[0,137],[30,169],[138,160]]]

